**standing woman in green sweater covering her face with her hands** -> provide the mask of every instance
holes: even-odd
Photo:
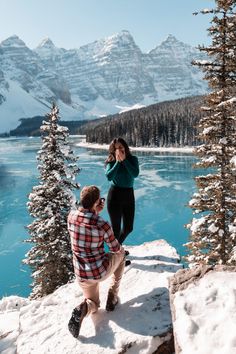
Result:
[[[106,176],[111,182],[107,210],[115,237],[122,244],[133,230],[135,211],[133,185],[134,178],[139,174],[138,159],[131,154],[124,139],[116,138],[109,146],[105,164]]]

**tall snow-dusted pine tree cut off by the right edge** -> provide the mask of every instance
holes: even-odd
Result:
[[[198,192],[189,206],[199,218],[188,225],[190,265],[236,263],[236,12],[235,0],[218,0],[208,31],[211,45],[200,47],[208,60],[198,61],[211,92],[202,107],[196,148],[197,166],[206,168],[198,176]]]

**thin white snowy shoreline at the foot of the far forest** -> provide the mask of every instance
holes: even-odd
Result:
[[[89,149],[97,149],[97,150],[108,150],[109,144],[97,144],[97,143],[87,143],[85,141],[81,141],[76,144],[78,147],[89,148]],[[144,152],[183,152],[183,153],[193,153],[194,147],[186,146],[186,147],[133,147],[130,146],[131,151],[144,151]]]

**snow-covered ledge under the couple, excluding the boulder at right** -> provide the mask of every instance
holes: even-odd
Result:
[[[84,319],[80,337],[69,333],[71,312],[82,301],[76,282],[64,285],[40,300],[17,296],[0,301],[0,352],[2,354],[151,354],[168,338],[172,327],[168,278],[182,265],[164,240],[126,247],[131,266],[125,268],[120,304],[104,310],[109,280],[101,289],[101,308]],[[164,335],[162,338],[161,335]]]

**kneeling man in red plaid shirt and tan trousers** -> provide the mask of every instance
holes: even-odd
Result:
[[[106,310],[113,311],[118,303],[118,291],[124,272],[125,252],[116,240],[109,223],[99,212],[104,207],[96,186],[85,186],[80,193],[80,206],[68,216],[68,231],[71,237],[73,264],[77,281],[83,291],[84,301],[77,306],[68,328],[78,337],[85,316],[94,313],[100,306],[99,284],[112,275]],[[110,252],[104,250],[104,242]]]

